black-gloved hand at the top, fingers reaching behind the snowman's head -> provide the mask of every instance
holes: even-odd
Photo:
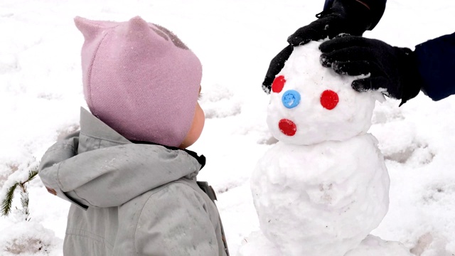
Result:
[[[340,33],[362,35],[370,28],[372,19],[370,9],[356,0],[334,0],[330,9],[316,14],[318,18],[309,25],[299,28],[289,36],[289,46],[280,51],[270,62],[269,69],[262,82],[262,90],[270,93],[275,76],[282,70],[293,47],[309,41],[333,38]]]

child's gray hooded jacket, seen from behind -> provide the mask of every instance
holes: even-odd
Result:
[[[64,255],[226,255],[200,168],[186,151],[133,144],[81,108],[80,132],[51,146],[39,172],[72,203]]]

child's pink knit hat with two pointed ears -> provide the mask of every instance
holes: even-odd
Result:
[[[127,22],[76,17],[82,79],[92,114],[134,141],[180,146],[198,101],[202,66],[171,31],[139,16]]]

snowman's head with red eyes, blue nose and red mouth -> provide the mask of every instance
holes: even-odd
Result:
[[[385,100],[381,92],[353,90],[351,82],[359,77],[324,68],[319,44],[295,47],[272,84],[267,124],[279,141],[311,145],[364,134],[375,101]]]

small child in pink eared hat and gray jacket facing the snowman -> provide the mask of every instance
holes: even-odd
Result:
[[[168,29],[76,17],[90,112],[41,160],[41,181],[70,201],[63,253],[228,255],[218,210],[196,181],[202,66]],[[203,184],[203,183],[199,183]],[[209,188],[209,189],[207,189]]]

